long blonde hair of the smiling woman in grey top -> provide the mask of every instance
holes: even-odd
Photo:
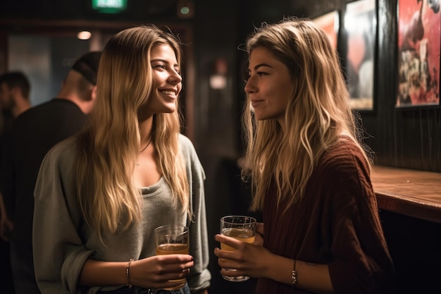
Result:
[[[141,219],[141,191],[132,176],[139,154],[138,109],[152,92],[150,52],[156,44],[169,44],[180,66],[179,39],[154,25],[132,27],[111,37],[99,63],[94,108],[77,136],[75,178],[80,207],[100,238]],[[173,199],[188,211],[190,190],[178,152],[181,117],[176,103],[173,113],[154,115],[152,134],[159,172],[170,185]]]

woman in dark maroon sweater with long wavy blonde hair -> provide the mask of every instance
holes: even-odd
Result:
[[[257,294],[393,293],[371,152],[325,32],[284,18],[256,28],[246,50],[242,175],[263,223],[256,243],[215,236],[236,249],[215,248],[221,274],[258,278]]]

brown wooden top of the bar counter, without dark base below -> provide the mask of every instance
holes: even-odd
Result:
[[[441,223],[441,173],[374,166],[378,209]]]

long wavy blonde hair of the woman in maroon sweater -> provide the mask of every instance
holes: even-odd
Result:
[[[361,144],[363,130],[349,106],[349,93],[336,50],[313,21],[284,18],[263,23],[248,37],[248,54],[257,47],[270,50],[287,66],[293,92],[285,111],[285,132],[274,119],[256,121],[247,97],[242,124],[247,148],[242,177],[251,178],[251,210],[263,209],[263,200],[275,181],[277,201],[290,197],[285,211],[304,195],[304,189],[323,152],[341,135]]]

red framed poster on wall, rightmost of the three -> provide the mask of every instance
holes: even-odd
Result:
[[[440,105],[440,1],[399,0],[397,107]]]

